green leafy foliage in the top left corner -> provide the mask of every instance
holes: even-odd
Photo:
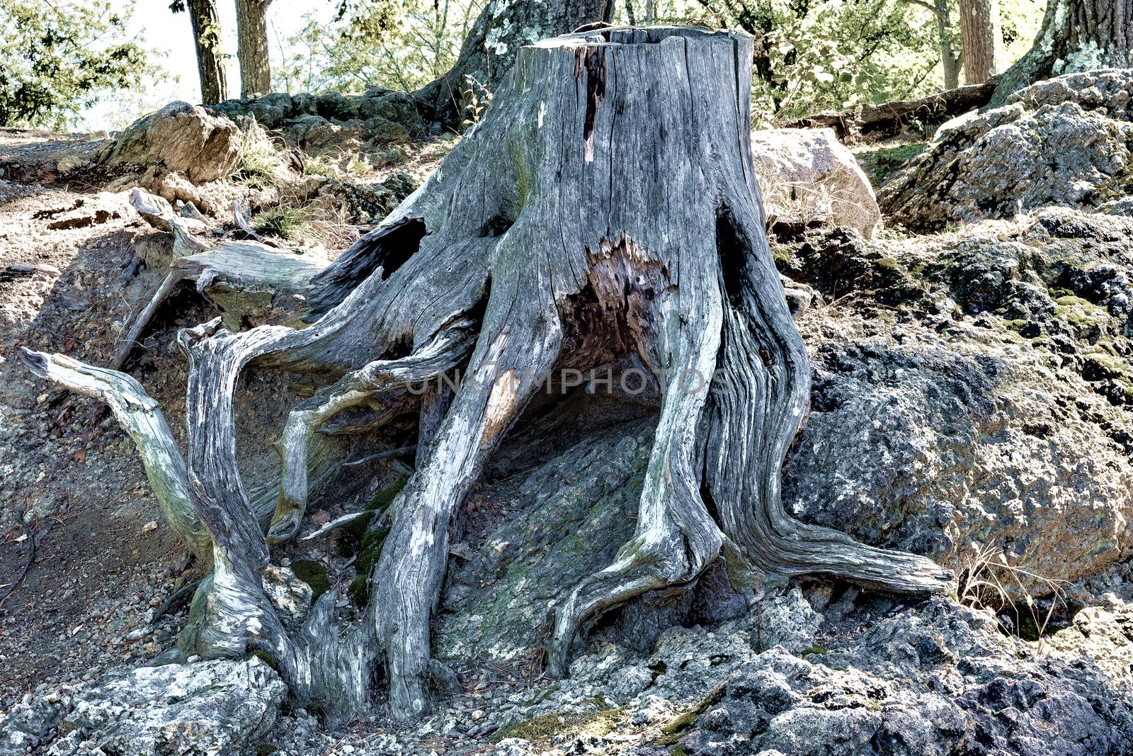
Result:
[[[0,3],[0,126],[62,129],[109,94],[138,91],[147,53],[109,0]]]

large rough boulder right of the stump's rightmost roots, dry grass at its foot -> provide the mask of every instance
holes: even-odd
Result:
[[[798,274],[850,301],[800,321],[787,510],[953,568],[974,544],[1056,579],[1128,558],[1131,226],[1047,211],[1015,240],[803,245]]]

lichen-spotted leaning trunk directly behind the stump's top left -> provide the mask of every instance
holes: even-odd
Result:
[[[458,128],[469,105],[467,92],[471,90],[477,100],[486,101],[504,74],[511,70],[520,48],[594,22],[608,23],[614,2],[488,0],[465,37],[452,69],[416,94],[433,103],[436,120],[449,128]]]

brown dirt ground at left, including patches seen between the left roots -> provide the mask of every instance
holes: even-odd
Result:
[[[191,592],[159,621],[153,614],[198,577],[102,402],[35,379],[20,362],[26,347],[109,364],[160,280],[144,260],[170,238],[138,219],[128,192],[101,189],[116,177],[63,177],[100,144],[0,129],[0,711],[41,683],[93,679],[172,647]],[[449,148],[425,145],[399,170],[419,180]],[[182,442],[186,369],[174,337],[215,314],[184,284],[127,363]],[[286,379],[253,372],[238,392],[248,479],[278,469],[270,440],[292,401],[286,389]],[[355,496],[387,477],[369,473]],[[357,503],[341,489],[329,499],[332,511],[314,508],[316,520]],[[323,558],[344,588],[352,572]]]

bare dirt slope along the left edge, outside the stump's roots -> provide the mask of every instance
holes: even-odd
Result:
[[[0,707],[156,653],[169,621],[128,636],[178,586],[186,557],[101,404],[31,380],[19,362],[28,347],[104,364],[129,312],[123,264],[152,231],[125,194],[56,172],[96,144],[0,131]],[[146,382],[167,400],[182,390]]]

